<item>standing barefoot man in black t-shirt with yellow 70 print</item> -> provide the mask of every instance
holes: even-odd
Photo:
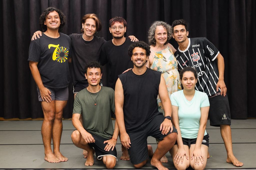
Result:
[[[67,35],[60,33],[65,25],[65,15],[59,9],[47,8],[40,16],[40,24],[44,33],[40,39],[31,41],[28,61],[44,112],[41,134],[45,160],[65,162],[68,158],[60,153],[60,139],[63,109],[68,101],[71,41]]]

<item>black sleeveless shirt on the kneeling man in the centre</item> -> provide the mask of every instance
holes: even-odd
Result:
[[[124,90],[123,111],[126,130],[137,128],[161,114],[156,100],[161,72],[147,68],[144,74],[136,75],[130,70],[120,74],[119,78]]]

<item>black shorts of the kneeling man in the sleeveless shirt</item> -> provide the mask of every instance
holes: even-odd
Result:
[[[163,115],[157,115],[153,119],[145,122],[136,129],[126,131],[131,140],[131,148],[128,149],[130,159],[133,165],[139,164],[148,159],[147,137],[153,136],[159,140],[163,140],[165,136],[160,131],[160,125],[164,121]],[[173,126],[173,132],[178,133]],[[173,133],[172,132],[172,133]]]

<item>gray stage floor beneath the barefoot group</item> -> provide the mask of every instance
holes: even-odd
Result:
[[[75,147],[70,135],[74,130],[71,121],[63,121],[63,132],[60,150],[68,157],[67,162],[48,163],[44,160],[44,146],[41,139],[42,121],[0,121],[0,169],[105,169],[101,161],[94,159],[92,167],[84,166],[82,150]],[[114,124],[114,121],[113,121]],[[240,169],[226,163],[226,150],[220,136],[219,127],[209,126],[210,136],[207,169]],[[256,168],[256,119],[232,120],[233,152],[244,165],[241,168]],[[148,143],[156,149],[155,139],[148,137]],[[118,158],[121,153],[121,143],[117,142]],[[94,157],[95,158],[95,157]],[[167,153],[169,163],[164,164],[169,169],[175,169],[172,158]],[[130,161],[118,160],[115,168],[133,168]],[[147,163],[143,169],[155,169]]]

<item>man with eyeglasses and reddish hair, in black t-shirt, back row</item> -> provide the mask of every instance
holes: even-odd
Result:
[[[127,54],[128,47],[134,42],[124,37],[127,22],[122,17],[114,17],[109,20],[109,32],[113,39],[102,45],[100,61],[101,65],[107,64],[108,79],[107,87],[115,89],[118,75],[128,68],[133,68],[133,62]],[[137,39],[135,41],[138,41]],[[130,160],[127,149],[122,145],[121,160]]]

